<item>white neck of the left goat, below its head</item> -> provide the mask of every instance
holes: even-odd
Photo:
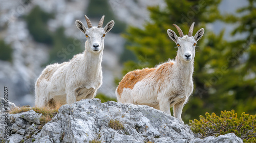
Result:
[[[101,71],[102,51],[95,54],[89,52],[89,45],[86,42],[86,50],[84,51],[84,65],[88,75],[92,77],[98,75]]]

